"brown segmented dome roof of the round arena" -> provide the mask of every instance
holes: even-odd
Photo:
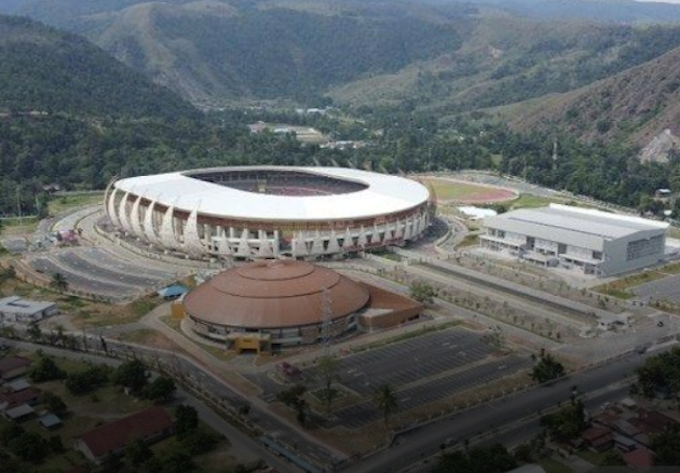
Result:
[[[251,263],[223,271],[184,298],[189,315],[215,325],[245,328],[296,327],[321,322],[328,289],[332,318],[368,303],[366,288],[322,266],[294,260]]]

